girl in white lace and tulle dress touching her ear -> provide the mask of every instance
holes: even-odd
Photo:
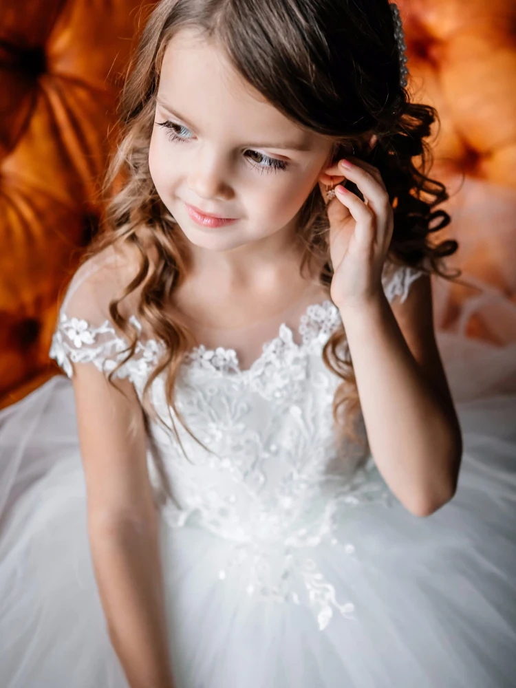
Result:
[[[393,7],[153,11],[67,377],[0,417],[3,687],[512,685],[516,396],[444,373]]]

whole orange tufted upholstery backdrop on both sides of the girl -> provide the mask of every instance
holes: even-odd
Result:
[[[58,372],[47,357],[57,299],[96,231],[119,76],[142,12],[152,5],[2,2],[0,407]],[[516,5],[399,0],[398,6],[409,89],[442,120],[433,177],[453,194],[444,206],[453,222],[440,236],[460,241],[453,265],[512,298],[503,308],[516,308]],[[472,298],[468,288],[440,284],[438,327],[451,327]],[[514,317],[502,315],[471,308],[463,325],[471,336],[516,341]]]

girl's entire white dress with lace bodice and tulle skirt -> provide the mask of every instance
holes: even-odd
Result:
[[[112,369],[127,345],[94,297],[100,274],[82,268],[63,301],[50,355],[68,376],[72,363]],[[419,274],[386,273],[389,300]],[[213,454],[178,423],[186,460],[151,424],[177,688],[515,686],[515,347],[438,334],[464,455],[455,497],[420,518],[368,451],[334,439],[341,380],[321,351],[339,317],[332,301],[308,305],[248,368],[230,347],[189,354],[176,398]],[[119,371],[139,396],[159,354],[147,339]],[[163,383],[152,394],[166,419]],[[0,412],[0,467],[1,687],[127,688],[90,558],[67,376]]]

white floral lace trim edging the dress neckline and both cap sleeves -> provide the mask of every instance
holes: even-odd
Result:
[[[382,283],[389,303],[396,296],[404,301],[411,283],[423,274],[421,270],[410,266],[402,266],[394,274],[385,272]],[[264,371],[271,372],[265,376],[266,378],[282,378],[289,368],[295,370],[295,374],[301,375],[298,365],[303,364],[309,355],[321,354],[328,339],[342,327],[340,311],[331,298],[324,296],[322,301],[321,295],[314,297],[299,318],[294,319],[291,314],[290,320],[283,314],[283,322],[279,328],[271,326],[272,333],[277,334],[261,344],[259,356],[245,368],[242,367],[242,361],[234,348],[222,345],[208,348],[202,344],[184,352],[180,367],[184,367],[185,372],[206,370],[219,374],[233,373],[236,378],[252,382]],[[287,325],[285,320],[289,320],[292,327]],[[127,353],[131,349],[131,343],[127,334],[120,332],[119,328],[115,329],[114,323],[105,316],[103,320],[96,321],[100,321],[101,324],[94,325],[92,321],[80,317],[80,314],[67,314],[64,305],[61,306],[49,354],[63,367],[69,377],[73,375],[73,363],[91,362],[102,372],[116,368],[117,377],[142,380],[166,353],[166,343],[155,338],[153,332],[146,331],[146,327],[136,314],[129,316],[129,322],[138,334],[133,355],[129,357]],[[294,333],[301,338],[301,343],[294,341]],[[213,341],[216,343],[217,338]],[[259,338],[256,341],[259,341]],[[344,347],[343,354],[348,356],[345,338],[339,346]],[[254,352],[255,347],[253,354]],[[122,364],[119,367],[118,361]]]

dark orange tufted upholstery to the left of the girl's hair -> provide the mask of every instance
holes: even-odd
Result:
[[[57,372],[58,295],[98,225],[120,75],[151,5],[1,3],[0,407]]]

